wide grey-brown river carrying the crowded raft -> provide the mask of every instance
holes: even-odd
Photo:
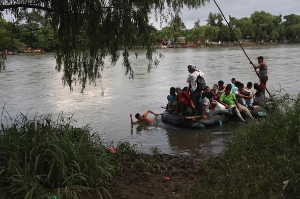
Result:
[[[248,56],[257,63],[256,57],[264,56],[268,65],[269,91],[292,95],[299,93],[299,55],[300,45],[263,45],[246,46]],[[195,64],[205,73],[209,87],[231,77],[241,81],[258,82],[258,78],[243,51],[238,46],[161,49],[164,59],[160,65],[147,73],[145,51],[140,50],[137,59],[131,55],[134,80],[129,81],[122,68],[122,60],[111,66],[109,59],[102,72],[101,87],[87,86],[80,94],[81,86],[76,85],[73,92],[62,86],[62,73],[55,71],[55,60],[51,53],[33,53],[8,56],[7,69],[0,73],[0,107],[14,117],[19,111],[28,113],[29,118],[36,114],[52,114],[57,117],[71,116],[77,126],[90,127],[103,137],[103,141],[115,145],[118,141],[128,140],[137,144],[140,150],[149,152],[157,146],[163,153],[197,154],[202,151],[219,153],[224,142],[230,139],[231,131],[245,125],[232,121],[220,127],[207,130],[177,128],[158,123],[150,126],[131,126],[129,114],[143,113],[147,109],[161,113],[167,103],[169,88],[187,86],[187,65]],[[4,120],[4,117],[3,117]]]

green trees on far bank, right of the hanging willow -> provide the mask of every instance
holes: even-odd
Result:
[[[178,22],[179,21],[179,22]],[[209,13],[207,24],[200,26],[198,19],[192,29],[186,29],[181,19],[172,19],[168,26],[154,31],[154,41],[159,42],[161,38],[174,39],[185,36],[186,42],[197,43],[206,39],[209,41],[233,42],[235,37],[227,24],[222,23],[223,17],[220,13]],[[250,17],[237,19],[229,16],[229,24],[239,39],[251,39],[253,42],[300,42],[300,16],[290,14],[272,15],[264,11],[255,11]]]

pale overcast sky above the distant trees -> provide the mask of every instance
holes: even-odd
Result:
[[[235,18],[250,17],[254,11],[265,11],[272,15],[282,16],[289,14],[300,15],[300,0],[216,0],[226,19],[229,15]],[[185,8],[182,13],[182,20],[187,29],[194,26],[194,22],[200,19],[200,24],[205,25],[208,14],[220,13],[213,0],[197,10],[189,10]],[[223,21],[225,23],[225,21]],[[159,22],[153,22],[153,25],[161,29]],[[163,24],[163,27],[166,24]]]

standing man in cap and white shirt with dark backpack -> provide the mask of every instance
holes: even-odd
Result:
[[[193,104],[196,108],[193,109],[193,114],[201,113],[201,92],[205,89],[204,73],[201,70],[196,70],[195,65],[188,65],[189,76],[187,83],[189,83],[188,93],[190,93]]]

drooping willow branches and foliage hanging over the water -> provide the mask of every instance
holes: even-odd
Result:
[[[129,50],[137,45],[147,49],[147,71],[159,64],[162,55],[152,45],[149,15],[162,23],[168,16],[181,14],[184,6],[198,8],[209,0],[0,0],[0,12],[18,18],[27,12],[47,16],[56,36],[56,70],[63,71],[63,85],[71,90],[78,80],[82,90],[86,83],[101,79],[103,59],[110,56],[112,65],[123,51],[123,66],[132,79]],[[5,69],[0,59],[0,71]]]

